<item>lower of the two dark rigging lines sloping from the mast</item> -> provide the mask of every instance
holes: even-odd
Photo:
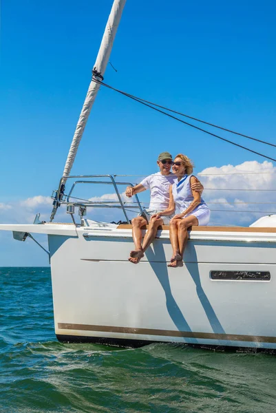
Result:
[[[145,105],[145,106],[147,106],[147,107],[150,107],[151,109],[156,110],[156,112],[160,112],[161,114],[164,114],[164,115],[166,115],[166,116],[169,116],[169,118],[178,120],[178,122],[184,123],[184,125],[191,126],[191,127],[193,127],[194,129],[198,129],[199,131],[204,132],[205,134],[209,134],[209,135],[211,135],[211,136],[214,136],[215,138],[218,138],[218,139],[220,139],[220,140],[224,140],[224,142],[231,143],[231,145],[235,145],[236,147],[240,147],[240,148],[242,148],[242,149],[245,149],[246,151],[249,151],[249,152],[255,153],[256,155],[262,156],[262,158],[266,158],[266,159],[269,159],[269,160],[273,160],[273,162],[276,162],[276,159],[270,158],[270,156],[266,156],[266,155],[264,155],[263,153],[260,153],[260,152],[257,152],[257,151],[253,151],[253,149],[249,149],[249,148],[247,148],[247,147],[244,147],[243,145],[239,145],[238,143],[232,142],[232,141],[229,140],[229,139],[222,138],[222,136],[218,136],[218,135],[216,135],[216,134],[212,134],[211,132],[206,131],[205,129],[202,129],[201,127],[198,127],[198,126],[192,125],[191,123],[185,122],[184,120],[182,120],[182,119],[180,119],[180,118],[177,118],[176,116],[173,116],[173,115],[171,115],[171,114],[167,114],[167,112],[164,112],[164,111],[158,109],[157,107],[154,107],[154,106],[149,105],[149,103],[146,103],[146,101],[141,100],[140,98],[138,98],[138,97],[136,97],[136,96],[134,96],[134,95],[128,94],[127,92],[123,92],[122,90],[116,89],[115,87],[112,87],[112,86],[110,86],[110,85],[107,85],[107,83],[103,83],[102,81],[98,81],[98,80],[96,80],[95,78],[92,78],[92,81],[94,81],[95,83],[98,83],[99,85],[103,85],[103,86],[105,86],[105,87],[107,87],[107,88],[109,88],[109,89],[112,89],[112,90],[114,90],[115,92],[118,92],[118,93],[120,93],[120,94],[123,94],[124,96],[127,96],[127,97],[131,98],[132,100],[136,100],[136,102],[141,103],[142,105]],[[253,138],[253,139],[255,140],[255,138]],[[273,146],[274,146],[274,145],[273,145]]]

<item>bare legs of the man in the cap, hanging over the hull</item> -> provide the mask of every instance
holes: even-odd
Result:
[[[149,229],[145,235],[144,241],[142,243],[142,230],[141,227],[147,224],[147,220],[142,217],[136,217],[132,220],[132,235],[134,237],[135,251],[130,252],[129,261],[134,264],[138,264],[140,259],[144,257],[144,253],[148,246],[153,242],[156,237],[158,226],[163,224],[162,218],[152,218],[149,221]],[[141,245],[142,244],[142,245]]]

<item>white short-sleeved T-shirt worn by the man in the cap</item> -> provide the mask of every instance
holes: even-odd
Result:
[[[151,191],[151,200],[149,209],[156,209],[163,211],[169,207],[169,187],[177,180],[177,176],[170,173],[170,175],[162,175],[157,172],[147,176],[140,184],[145,189]]]

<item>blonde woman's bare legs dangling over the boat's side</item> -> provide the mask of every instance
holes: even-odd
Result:
[[[169,235],[173,247],[173,256],[168,266],[175,268],[182,265],[183,253],[188,241],[188,228],[192,225],[198,225],[198,218],[194,215],[171,220]]]

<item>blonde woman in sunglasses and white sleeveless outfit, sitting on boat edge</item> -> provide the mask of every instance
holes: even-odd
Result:
[[[169,225],[173,256],[168,266],[173,268],[182,265],[184,248],[188,240],[188,228],[192,225],[207,225],[210,218],[210,210],[200,197],[200,193],[191,189],[191,185],[197,182],[197,178],[191,175],[192,172],[191,160],[179,153],[173,161],[173,173],[178,176],[178,180],[170,187],[169,207],[161,213],[171,215],[176,208],[180,210],[180,213],[171,219]]]

